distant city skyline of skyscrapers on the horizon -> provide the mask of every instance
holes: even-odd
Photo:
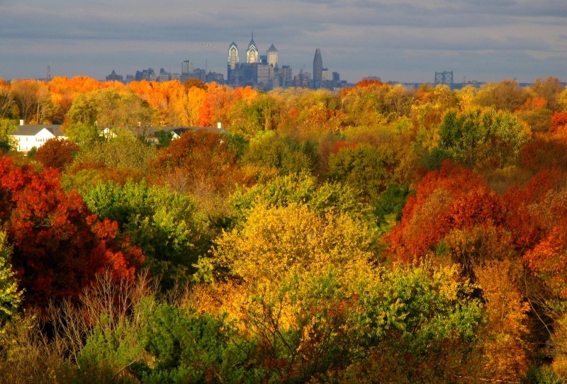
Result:
[[[301,68],[299,73],[294,75],[289,65],[280,65],[279,52],[274,47],[274,44],[270,45],[268,50],[266,50],[266,55],[261,55],[254,42],[254,33],[252,33],[252,39],[242,59],[241,62],[238,46],[233,41],[228,47],[226,79],[223,74],[194,68],[193,62],[186,60],[181,63],[181,73],[166,72],[162,68],[159,70],[159,74],[157,74],[154,69],[149,68],[137,71],[135,75],[130,74],[124,78],[113,71],[106,77],[106,80],[129,83],[130,81],[141,80],[186,81],[188,79],[196,79],[203,81],[203,83],[215,81],[218,84],[229,86],[250,86],[261,91],[288,87],[340,89],[349,86],[347,81],[341,81],[338,72],[330,74],[329,69],[323,68],[319,48],[315,50],[315,57],[313,58],[313,74],[305,72]]]

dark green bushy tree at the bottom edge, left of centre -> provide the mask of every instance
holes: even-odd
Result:
[[[242,351],[230,345],[223,320],[159,304],[140,332],[151,358],[133,373],[142,383],[236,383],[245,376]]]

